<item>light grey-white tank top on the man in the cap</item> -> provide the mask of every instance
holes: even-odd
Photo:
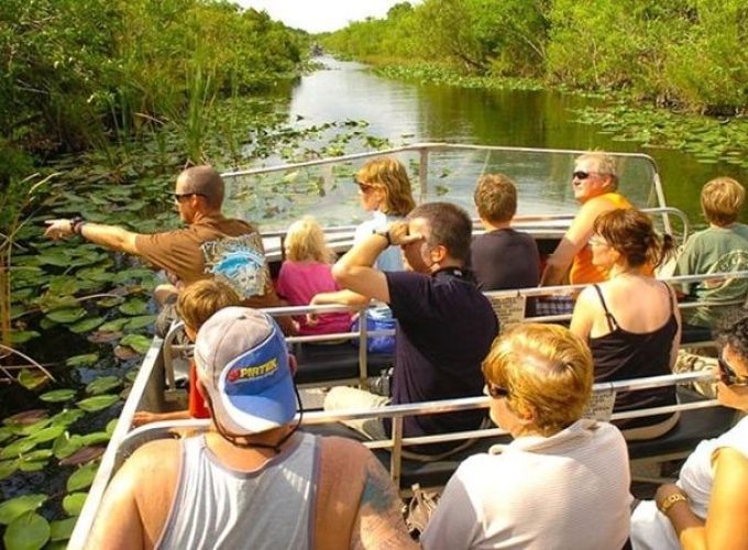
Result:
[[[205,436],[182,444],[182,471],[157,549],[314,547],[319,443],[298,433],[261,469],[226,468]]]

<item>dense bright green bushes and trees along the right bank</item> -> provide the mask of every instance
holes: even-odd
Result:
[[[705,113],[748,108],[745,0],[424,0],[322,42],[374,63],[625,89]]]

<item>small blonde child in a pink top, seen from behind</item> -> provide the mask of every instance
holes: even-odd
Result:
[[[340,289],[332,279],[330,268],[336,254],[324,239],[322,228],[311,216],[292,223],[284,241],[286,260],[280,265],[277,280],[278,295],[292,306],[307,306],[315,295]],[[298,316],[299,334],[331,334],[348,332],[351,315],[324,314],[310,323],[306,316]]]

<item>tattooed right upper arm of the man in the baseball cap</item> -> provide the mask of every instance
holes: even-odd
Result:
[[[400,501],[387,471],[370,453],[366,481],[351,537],[351,548],[418,548],[403,519]]]

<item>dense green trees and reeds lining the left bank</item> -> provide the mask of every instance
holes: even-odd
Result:
[[[194,127],[215,98],[294,72],[305,40],[226,1],[3,0],[0,151],[79,151],[153,124]]]

